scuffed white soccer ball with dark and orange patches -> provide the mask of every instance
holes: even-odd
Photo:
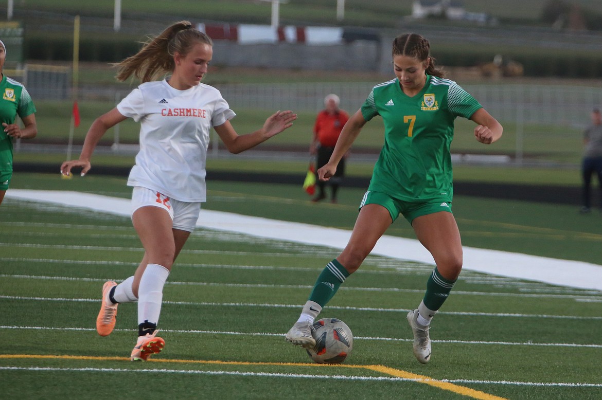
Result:
[[[306,351],[318,364],[340,364],[351,354],[353,334],[340,319],[322,318],[315,321],[311,334],[315,339],[315,346]]]

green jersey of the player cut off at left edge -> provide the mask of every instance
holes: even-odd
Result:
[[[36,112],[25,87],[14,79],[2,76],[0,81],[0,123],[14,123],[17,115],[26,117]],[[13,170],[13,138],[0,129],[0,172]],[[0,182],[2,183],[2,182]]]

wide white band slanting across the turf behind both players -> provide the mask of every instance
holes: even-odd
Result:
[[[92,209],[129,217],[129,199],[74,191],[11,189],[8,198],[52,203],[70,208]],[[342,249],[349,240],[350,230],[326,228],[268,218],[202,209],[197,226],[228,232],[246,233],[262,238],[279,239],[303,244]],[[433,259],[415,239],[384,235],[372,254],[432,264]],[[602,266],[592,263],[558,260],[507,251],[464,247],[464,269],[503,275],[552,285],[572,286],[602,291]]]

